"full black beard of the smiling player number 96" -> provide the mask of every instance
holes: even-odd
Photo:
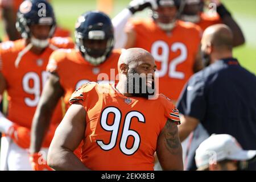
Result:
[[[135,73],[138,74],[138,72],[134,69],[131,68],[128,75],[127,75],[127,93],[129,93],[129,84],[133,84],[133,92],[130,93],[133,97],[143,97],[143,98],[149,98],[149,96],[154,96],[155,94],[155,82],[152,81],[152,87],[150,88],[149,86],[147,86],[146,82],[143,81],[145,79],[143,79],[142,77],[139,77],[139,84],[137,84],[135,82],[135,77],[130,77],[129,74],[134,75]],[[139,92],[137,92],[139,88]],[[144,90],[143,88],[146,88],[146,90]],[[153,90],[153,92],[152,92]],[[146,91],[146,92],[144,92]]]

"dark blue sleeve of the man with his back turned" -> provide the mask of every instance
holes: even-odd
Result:
[[[204,90],[204,79],[200,75],[193,75],[177,101],[177,109],[180,113],[202,121],[207,107]]]

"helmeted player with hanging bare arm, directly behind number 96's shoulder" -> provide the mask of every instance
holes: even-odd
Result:
[[[82,84],[90,81],[115,82],[117,73],[111,73],[111,69],[115,71],[117,68],[121,50],[113,50],[114,29],[108,15],[100,11],[82,14],[76,23],[75,38],[76,49],[59,49],[49,58],[47,71],[51,76],[32,122],[31,154],[40,151],[52,111],[62,96],[68,109],[71,94]],[[108,78],[101,77],[102,73]],[[78,150],[76,154],[79,155]]]

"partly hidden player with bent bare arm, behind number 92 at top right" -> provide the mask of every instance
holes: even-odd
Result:
[[[202,30],[205,30],[207,27],[224,23],[230,30],[233,32],[233,46],[241,46],[245,43],[245,38],[243,36],[240,26],[232,18],[232,15],[226,9],[223,3],[220,0],[211,0],[209,3],[209,13],[204,13],[201,11],[201,5],[205,3],[204,0],[180,0],[185,2],[184,9],[181,13],[181,20],[185,22],[196,23],[201,27]]]

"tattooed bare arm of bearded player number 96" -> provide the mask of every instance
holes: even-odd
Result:
[[[182,147],[177,125],[168,119],[158,136],[156,154],[163,170],[183,170]]]

